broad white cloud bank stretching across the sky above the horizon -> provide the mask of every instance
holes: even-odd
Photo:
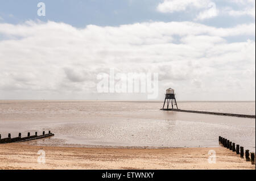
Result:
[[[109,68],[124,73],[158,72],[159,92],[171,82],[178,92],[200,89],[209,99],[242,94],[245,99],[255,99],[255,76],[251,76],[255,75],[255,41],[226,40],[255,37],[255,23],[232,28],[192,22],[75,28],[30,21],[0,23],[0,35],[5,37],[0,41],[0,99],[16,95],[83,99],[86,94],[96,99],[91,94],[96,92],[97,74],[108,73]],[[222,92],[222,97],[215,98],[215,92]]]

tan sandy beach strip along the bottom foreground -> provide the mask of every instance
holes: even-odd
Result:
[[[46,163],[38,163],[38,150]],[[208,151],[216,163],[208,163]],[[226,148],[113,149],[0,145],[0,169],[255,169]]]

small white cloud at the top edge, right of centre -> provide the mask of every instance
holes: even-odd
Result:
[[[208,0],[164,0],[164,2],[159,3],[157,9],[160,12],[185,11],[189,8],[201,9],[207,7],[209,2]]]

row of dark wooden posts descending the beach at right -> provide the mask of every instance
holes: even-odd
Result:
[[[228,139],[221,137],[221,136],[218,137],[218,142],[220,143],[220,145],[224,146],[225,148],[232,150],[233,152],[236,152],[237,154],[240,154],[241,158],[244,157],[243,146],[236,145],[234,142],[229,141]],[[250,158],[250,151],[245,150],[245,160],[246,160],[246,162],[251,161],[251,164],[254,165],[255,164],[255,153],[251,153],[251,158]]]

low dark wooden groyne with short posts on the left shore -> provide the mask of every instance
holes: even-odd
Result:
[[[42,135],[38,136],[38,132],[35,132],[35,135],[30,136],[30,132],[28,132],[27,133],[27,137],[21,137],[21,133],[19,133],[18,137],[11,138],[11,133],[9,133],[7,138],[2,138],[2,139],[1,139],[1,134],[0,134],[0,144],[7,144],[7,143],[11,143],[11,142],[36,140],[36,139],[45,138],[45,137],[49,137],[49,136],[54,136],[54,134],[51,133],[51,131],[49,131],[47,134],[46,134],[45,131],[43,131]]]

